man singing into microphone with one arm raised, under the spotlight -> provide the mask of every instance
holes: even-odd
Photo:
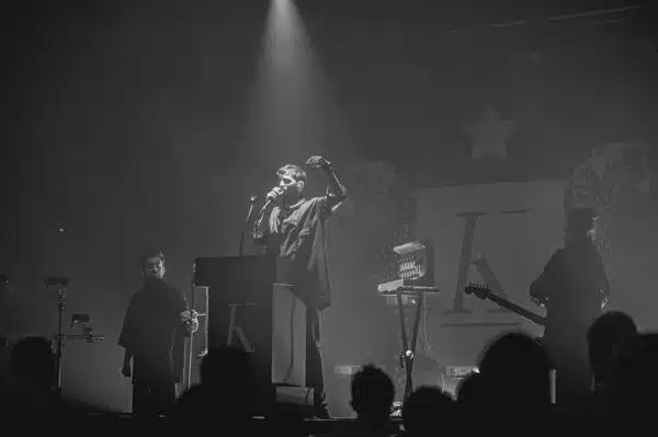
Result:
[[[327,267],[327,220],[345,198],[329,161],[311,157],[309,170],[322,170],[329,186],[325,196],[305,198],[306,172],[287,164],[276,171],[279,185],[268,193],[253,228],[253,240],[283,265],[280,280],[294,286],[306,304],[306,386],[314,389],[315,416],[328,417],[320,354],[320,312],[331,304]]]

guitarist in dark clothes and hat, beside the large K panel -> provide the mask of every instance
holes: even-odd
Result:
[[[591,391],[587,331],[608,302],[610,286],[593,243],[593,208],[576,208],[567,217],[565,246],[555,251],[532,283],[532,300],[546,307],[542,343],[556,369],[558,400]]]

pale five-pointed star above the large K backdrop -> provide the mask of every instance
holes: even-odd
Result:
[[[507,159],[507,140],[514,131],[514,122],[500,119],[496,108],[489,106],[476,122],[464,128],[468,135],[472,149],[470,158],[478,161],[486,156],[497,156]]]

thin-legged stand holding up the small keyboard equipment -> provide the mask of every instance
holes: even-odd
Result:
[[[386,292],[385,295],[395,295],[397,297],[398,314],[400,318],[400,335],[402,341],[402,353],[400,354],[400,366],[405,369],[405,396],[402,403],[407,401],[413,391],[413,359],[416,358],[416,344],[418,341],[418,326],[420,324],[420,314],[424,308],[426,292],[440,292],[436,287],[398,287],[395,291]],[[402,304],[402,295],[416,296],[418,303],[416,306],[416,317],[413,318],[413,331],[411,333],[411,345],[407,336],[407,323],[405,320],[405,307]]]

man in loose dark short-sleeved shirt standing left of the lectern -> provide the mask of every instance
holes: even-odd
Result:
[[[175,401],[184,338],[198,322],[183,295],[164,281],[164,255],[148,252],[141,260],[144,286],[131,298],[118,345],[125,348],[122,373],[133,378],[133,413],[159,415]]]

